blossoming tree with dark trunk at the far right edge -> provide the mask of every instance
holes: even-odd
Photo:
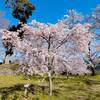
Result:
[[[92,75],[95,75],[95,67],[97,65],[97,61],[95,61],[100,54],[100,5],[97,5],[96,9],[92,12],[92,14],[88,17],[88,21],[90,22],[91,29],[90,31],[93,34],[92,40],[88,44],[88,54],[87,58],[92,70]],[[93,50],[94,49],[94,50]]]

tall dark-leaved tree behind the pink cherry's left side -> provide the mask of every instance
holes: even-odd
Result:
[[[24,34],[24,31],[21,30],[22,24],[27,22],[29,16],[32,15],[32,11],[35,10],[35,7],[29,2],[29,0],[5,0],[5,4],[7,8],[11,9],[12,16],[20,21],[17,26],[12,25],[8,28],[8,30],[14,32],[20,30],[18,36],[22,39]],[[8,42],[7,44],[4,43],[4,46],[6,48],[6,60],[7,56],[11,56],[13,54],[13,45]]]

